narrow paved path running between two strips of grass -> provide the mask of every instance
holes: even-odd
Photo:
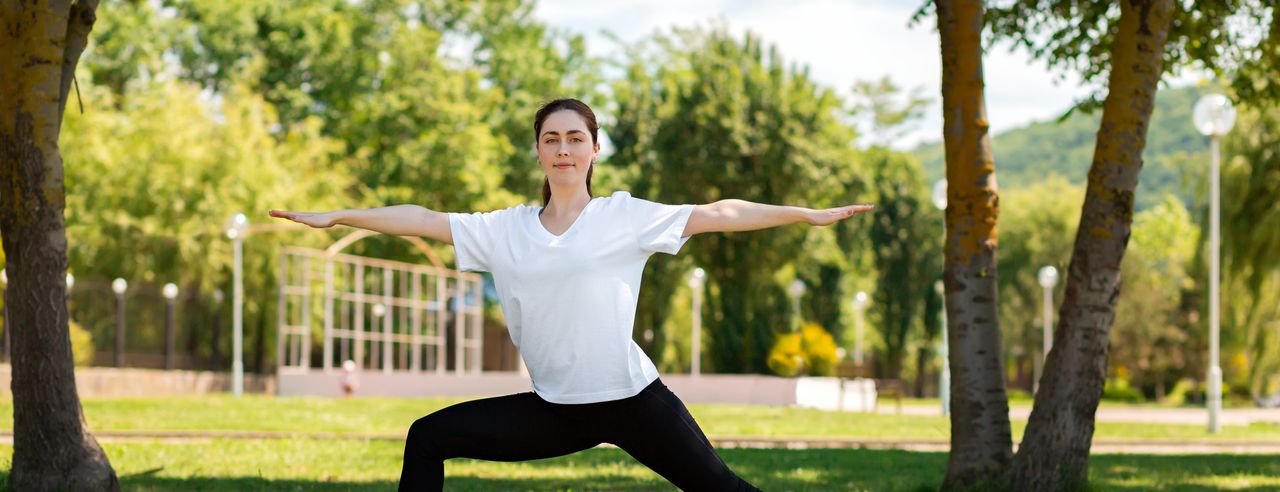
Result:
[[[369,439],[403,442],[401,434],[384,433],[298,433],[298,432],[256,432],[256,430],[97,430],[95,438],[100,442],[210,442],[212,439]],[[947,439],[896,439],[896,438],[856,438],[856,437],[787,437],[787,436],[709,436],[716,447],[733,448],[838,448],[838,450],[905,450],[905,451],[947,451]],[[0,443],[12,445],[13,432],[0,430]],[[611,445],[602,445],[612,447]],[[1015,443],[1016,448],[1016,443]],[[1262,454],[1280,455],[1280,441],[1239,441],[1239,439],[1093,439],[1096,454],[1144,454],[1144,455],[1199,455],[1199,454]]]

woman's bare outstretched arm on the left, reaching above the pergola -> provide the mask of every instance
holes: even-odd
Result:
[[[449,245],[453,243],[453,233],[449,231],[449,215],[419,205],[393,205],[378,209],[333,211],[271,210],[269,215],[315,228],[342,224],[384,234],[421,236]]]

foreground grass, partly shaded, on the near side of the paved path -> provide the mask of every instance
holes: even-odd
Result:
[[[402,447],[361,439],[192,439],[105,442],[125,491],[385,491],[399,477]],[[13,448],[0,445],[0,480]],[[765,491],[937,489],[946,454],[874,450],[721,450]],[[451,491],[672,491],[617,448],[524,461],[445,461]],[[1280,489],[1280,456],[1096,455],[1101,491]]]

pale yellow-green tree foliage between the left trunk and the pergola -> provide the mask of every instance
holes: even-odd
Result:
[[[319,135],[317,122],[273,133],[271,108],[239,88],[215,105],[191,83],[138,83],[116,104],[104,87],[82,81],[86,113],[68,111],[61,140],[68,256],[81,279],[124,277],[137,286],[131,291],[174,282],[196,299],[196,316],[215,287],[230,292],[224,226],[233,214],[247,213],[252,224],[265,222],[259,214],[269,208],[346,205],[351,178],[330,168],[334,144]],[[246,291],[275,292],[280,247],[329,241],[324,233],[251,234]],[[259,327],[259,337],[274,299],[246,296],[246,325]],[[81,320],[95,333],[111,323]]]

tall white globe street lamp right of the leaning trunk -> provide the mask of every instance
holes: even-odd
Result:
[[[1206,404],[1208,405],[1208,432],[1217,433],[1222,430],[1221,423],[1219,422],[1219,414],[1222,413],[1222,368],[1219,366],[1219,281],[1220,281],[1220,265],[1221,259],[1219,256],[1220,250],[1220,222],[1219,215],[1221,214],[1219,188],[1220,183],[1220,165],[1219,165],[1219,149],[1217,141],[1226,132],[1231,131],[1235,126],[1235,108],[1231,108],[1231,101],[1220,94],[1210,94],[1196,101],[1196,108],[1192,110],[1192,118],[1196,123],[1196,129],[1210,138],[1210,284],[1208,284],[1208,397]]]

